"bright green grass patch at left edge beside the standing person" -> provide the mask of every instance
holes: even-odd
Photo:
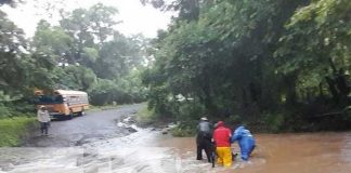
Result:
[[[20,146],[36,122],[35,118],[28,117],[0,119],[0,147]]]

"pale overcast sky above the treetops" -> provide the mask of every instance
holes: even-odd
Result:
[[[15,9],[2,6],[9,18],[20,28],[23,28],[27,37],[32,37],[37,23],[41,18],[49,19],[57,24],[58,16],[55,15],[58,9],[73,11],[78,8],[89,8],[95,3],[102,2],[105,5],[112,5],[118,9],[119,14],[116,21],[122,21],[116,26],[116,29],[125,35],[143,34],[145,37],[156,37],[158,29],[166,29],[170,23],[170,13],[160,12],[151,5],[142,5],[140,0],[27,0],[29,3],[18,4]],[[35,1],[35,2],[34,2]],[[62,2],[64,3],[62,3]],[[48,2],[51,6],[48,12]],[[49,14],[48,14],[49,13]],[[54,15],[50,15],[54,14]]]

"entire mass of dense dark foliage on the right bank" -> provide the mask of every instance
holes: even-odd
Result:
[[[179,10],[153,41],[155,62],[143,74],[158,114],[270,130],[330,117],[325,128],[340,128],[348,119],[351,1],[143,2]]]

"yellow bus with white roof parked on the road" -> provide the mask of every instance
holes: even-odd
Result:
[[[36,107],[46,106],[53,119],[72,119],[82,116],[89,108],[88,94],[81,91],[54,90],[50,93],[35,92]]]

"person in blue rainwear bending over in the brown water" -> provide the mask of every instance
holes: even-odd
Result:
[[[247,161],[256,147],[256,142],[249,130],[240,125],[235,129],[231,137],[231,143],[238,142],[242,159]]]

